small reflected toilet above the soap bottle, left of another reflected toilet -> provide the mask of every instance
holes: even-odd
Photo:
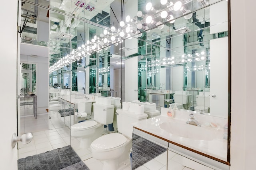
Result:
[[[172,103],[170,106],[173,108],[176,104],[178,109],[187,109],[191,102],[191,96],[192,94],[189,94],[188,91],[176,91],[173,95],[175,103]]]

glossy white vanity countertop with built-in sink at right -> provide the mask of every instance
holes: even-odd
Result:
[[[182,119],[168,118],[163,115],[138,121],[133,126],[174,145],[176,143],[214,158],[227,160],[227,140],[223,139],[223,127],[213,128],[204,125],[197,127],[186,124]]]

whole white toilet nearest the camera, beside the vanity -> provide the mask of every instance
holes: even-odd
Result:
[[[117,109],[118,132],[99,137],[91,144],[92,157],[103,162],[103,170],[121,170],[130,163],[132,148],[132,123],[147,119],[146,113],[135,114]]]

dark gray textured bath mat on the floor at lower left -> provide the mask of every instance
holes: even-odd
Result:
[[[18,170],[60,170],[77,162],[81,162],[81,159],[69,145],[26,158],[20,158],[18,159]],[[79,165],[77,164],[77,166]]]

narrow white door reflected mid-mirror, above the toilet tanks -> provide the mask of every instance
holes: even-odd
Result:
[[[125,61],[125,101],[138,100],[138,56]]]

